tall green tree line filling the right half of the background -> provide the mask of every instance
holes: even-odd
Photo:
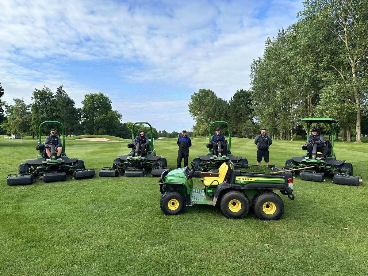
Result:
[[[368,134],[368,2],[306,0],[296,24],[266,40],[251,64],[251,87],[229,102],[208,89],[191,96],[194,135],[212,121],[229,121],[233,135],[267,128],[273,138],[306,134],[301,118],[332,117],[346,141]],[[329,129],[321,125],[328,134]]]

